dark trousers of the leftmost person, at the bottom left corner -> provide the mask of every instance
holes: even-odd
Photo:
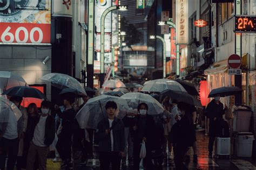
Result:
[[[5,169],[5,160],[6,155],[8,153],[8,161],[7,161],[7,168],[6,170],[13,170],[17,155],[18,155],[18,148],[19,148],[19,140],[16,139],[6,139],[2,138],[0,141],[0,148],[2,147],[2,153],[0,153],[0,169]]]

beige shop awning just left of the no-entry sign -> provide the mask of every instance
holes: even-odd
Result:
[[[227,59],[214,62],[208,69],[205,70],[205,75],[224,73],[227,70]]]

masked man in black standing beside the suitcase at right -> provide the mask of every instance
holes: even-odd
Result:
[[[223,103],[220,102],[220,95],[216,95],[206,107],[206,117],[210,119],[208,143],[209,158],[212,158],[214,139],[217,136],[217,129],[219,126],[218,122],[223,119],[222,116],[225,114],[223,108]]]

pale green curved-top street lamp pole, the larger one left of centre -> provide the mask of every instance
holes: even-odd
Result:
[[[105,18],[107,13],[116,10],[117,6],[110,6],[103,13],[100,18],[100,87],[104,83],[104,34],[105,34]]]

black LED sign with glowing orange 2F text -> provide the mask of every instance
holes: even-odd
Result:
[[[256,32],[256,16],[235,16],[234,32]]]

